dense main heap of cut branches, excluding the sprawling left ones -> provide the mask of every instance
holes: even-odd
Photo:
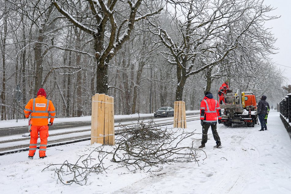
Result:
[[[194,132],[162,128],[153,120],[122,128],[123,131],[116,136],[116,149],[111,160],[119,163],[119,167],[135,171],[156,166],[159,168],[154,171],[158,171],[164,163],[198,162],[193,144],[181,146],[184,140],[195,135]]]

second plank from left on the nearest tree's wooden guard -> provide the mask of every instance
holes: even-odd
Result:
[[[98,95],[97,143],[104,144],[105,94]]]

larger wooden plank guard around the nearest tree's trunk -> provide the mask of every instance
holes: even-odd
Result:
[[[105,94],[92,96],[91,145],[114,145],[114,99]]]

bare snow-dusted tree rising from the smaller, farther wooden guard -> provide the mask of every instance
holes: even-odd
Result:
[[[159,21],[150,20],[149,30],[157,42],[168,49],[164,55],[176,64],[176,100],[182,100],[183,88],[191,75],[222,62],[235,50],[251,47],[272,52],[274,37],[264,22],[272,10],[262,0],[168,1],[175,7],[172,17],[174,35]]]

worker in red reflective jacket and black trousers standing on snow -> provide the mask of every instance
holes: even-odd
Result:
[[[214,140],[216,141],[216,146],[214,147],[218,148],[221,146],[221,141],[216,130],[217,118],[218,120],[221,119],[221,109],[219,103],[217,100],[213,99],[213,95],[209,91],[206,91],[205,97],[200,104],[202,141],[201,146],[199,146],[199,148],[205,147],[205,144],[207,142],[207,132],[210,126]]]

